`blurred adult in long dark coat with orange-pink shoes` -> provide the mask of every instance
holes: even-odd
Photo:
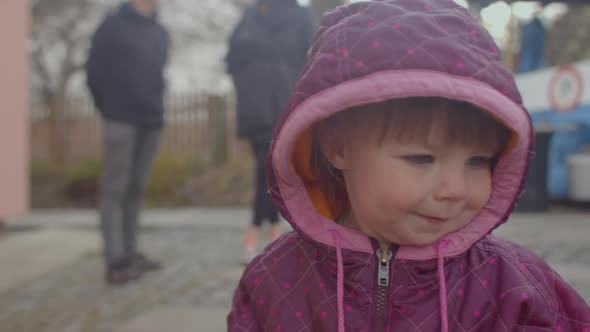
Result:
[[[245,260],[255,254],[264,220],[272,224],[271,241],[281,233],[278,211],[266,190],[264,164],[313,33],[311,11],[296,0],[258,0],[246,9],[229,40],[225,60],[237,94],[238,136],[250,141],[256,157],[256,197],[252,225],[244,237]]]

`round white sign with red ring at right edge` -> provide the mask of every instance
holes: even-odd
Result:
[[[569,112],[580,104],[583,91],[582,75],[573,66],[563,66],[549,82],[549,102],[558,112]]]

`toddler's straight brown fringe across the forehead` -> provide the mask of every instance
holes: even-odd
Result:
[[[489,113],[460,101],[411,98],[384,104],[381,140],[474,146],[502,151],[510,130]]]

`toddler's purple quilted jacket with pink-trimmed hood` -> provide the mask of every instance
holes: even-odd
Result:
[[[352,106],[411,96],[472,103],[513,130],[487,205],[426,247],[334,222],[342,206],[310,168],[310,126]],[[533,129],[490,35],[452,0],[363,1],[326,14],[269,157],[275,204],[295,231],[246,268],[229,331],[590,332],[590,308],[541,258],[490,235],[522,192]],[[342,204],[340,204],[342,205]]]

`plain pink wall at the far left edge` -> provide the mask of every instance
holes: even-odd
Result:
[[[29,1],[0,0],[0,219],[29,206]]]

